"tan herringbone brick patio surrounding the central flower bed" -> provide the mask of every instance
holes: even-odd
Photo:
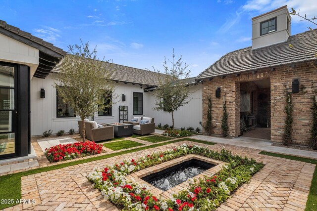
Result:
[[[182,143],[198,144],[221,150],[225,147],[233,154],[248,156],[265,164],[248,184],[242,185],[218,211],[249,210],[296,210],[305,209],[315,165],[258,154],[260,150],[225,144],[205,145],[189,141],[130,153],[63,169],[22,177],[22,198],[35,199],[36,204],[17,205],[7,210],[117,210],[103,199],[86,176],[95,167],[124,159],[136,159],[153,151],[172,148]]]

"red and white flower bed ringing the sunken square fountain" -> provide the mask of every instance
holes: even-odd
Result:
[[[198,181],[188,179],[190,188],[173,194],[169,200],[157,199],[146,184],[141,185],[125,179],[125,176],[132,172],[191,153],[228,164],[215,175],[205,176]],[[125,211],[211,211],[219,207],[233,191],[249,181],[263,166],[253,159],[232,155],[228,150],[222,149],[219,153],[207,147],[182,144],[174,149],[152,153],[137,160],[125,160],[102,170],[95,169],[87,178],[95,183],[95,187],[106,200]]]

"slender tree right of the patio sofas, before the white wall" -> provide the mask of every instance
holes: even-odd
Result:
[[[168,61],[168,62],[167,62]],[[167,63],[170,63],[170,67]],[[188,66],[186,63],[183,65],[182,56],[175,59],[174,49],[172,60],[163,62],[164,71],[166,76],[159,77],[159,87],[154,91],[155,105],[154,110],[164,110],[172,115],[173,128],[174,125],[174,112],[177,111],[184,104],[189,103],[189,90],[187,88],[187,80],[190,71],[186,71]],[[160,73],[158,69],[153,67],[154,71]]]

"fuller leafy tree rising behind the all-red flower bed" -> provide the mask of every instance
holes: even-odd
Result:
[[[74,109],[83,123],[83,142],[85,142],[84,119],[111,106],[111,93],[114,85],[109,77],[105,62],[97,59],[96,48],[89,50],[89,43],[69,45],[68,54],[60,63],[60,73],[54,77],[54,87]],[[111,65],[107,63],[108,65]],[[105,102],[110,102],[105,105]]]

